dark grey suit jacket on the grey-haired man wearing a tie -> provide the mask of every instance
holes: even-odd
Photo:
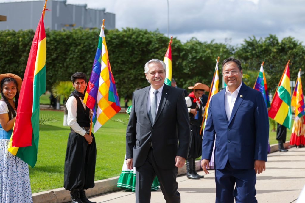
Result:
[[[187,157],[190,142],[188,110],[183,90],[163,86],[160,104],[152,124],[147,112],[149,87],[137,90],[132,96],[132,109],[126,130],[126,159],[133,166],[142,166],[151,142],[156,163],[160,168],[175,167],[175,157]]]

